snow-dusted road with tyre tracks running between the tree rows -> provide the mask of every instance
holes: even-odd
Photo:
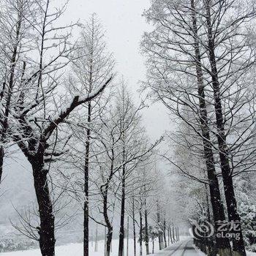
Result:
[[[156,256],[200,256],[199,252],[195,251],[192,240],[181,241],[177,244],[173,244],[162,252],[159,252]]]

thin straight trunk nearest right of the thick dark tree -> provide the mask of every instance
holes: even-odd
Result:
[[[87,122],[91,123],[91,102],[88,104]],[[86,129],[86,159],[84,166],[83,256],[89,256],[89,152],[91,129]]]

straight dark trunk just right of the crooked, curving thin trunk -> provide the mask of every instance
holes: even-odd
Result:
[[[118,256],[123,256],[123,252],[124,252],[124,207],[125,207],[125,166],[123,166],[123,173],[122,173],[122,180],[121,180],[121,216],[120,216]]]

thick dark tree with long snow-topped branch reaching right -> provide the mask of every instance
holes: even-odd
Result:
[[[55,26],[66,6],[52,11],[50,2],[50,0],[32,1],[31,3],[35,5],[34,9],[38,10],[37,15],[34,15],[34,9],[30,9],[31,4],[29,7],[26,5],[29,18],[34,23],[30,22],[29,18],[26,21],[32,26],[33,33],[29,35],[27,42],[24,42],[24,45],[30,49],[26,53],[26,64],[22,65],[23,71],[18,73],[17,79],[21,82],[15,84],[18,87],[18,95],[13,97],[15,106],[12,108],[11,126],[12,140],[18,143],[33,169],[34,188],[39,206],[38,233],[42,255],[54,255],[56,241],[48,172],[50,162],[63,154],[63,151],[59,151],[56,147],[59,125],[75,108],[97,97],[111,80],[108,78],[97,89],[83,97],[75,95],[69,99],[59,93],[57,86],[61,83],[63,70],[69,64],[71,53],[75,49],[71,43],[70,29],[77,24]],[[18,3],[21,4],[23,1],[18,1]],[[17,6],[17,12],[23,15],[23,5]],[[19,20],[21,18],[18,18],[18,26],[15,25],[17,36],[15,38],[18,43],[18,31],[21,26]],[[15,42],[15,47],[18,47],[17,42]],[[13,58],[17,58],[17,54],[14,49]],[[16,63],[15,59],[11,61],[11,84],[8,86],[11,91]],[[7,94],[7,101],[10,100],[11,91]],[[65,102],[68,102],[67,105]],[[7,118],[4,119],[7,120]]]

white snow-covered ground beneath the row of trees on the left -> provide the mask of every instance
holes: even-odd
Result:
[[[186,240],[187,237],[181,237],[181,240]],[[127,255],[127,240],[124,241],[125,250],[124,255]],[[90,255],[91,256],[103,256],[104,255],[104,241],[98,242],[98,251],[94,252],[95,244],[90,244]],[[152,243],[149,244],[150,252],[152,252]],[[139,255],[139,244],[137,244],[137,250]],[[158,243],[157,239],[155,241],[155,251],[158,252]],[[112,254],[113,256],[118,255],[118,240],[113,240]],[[67,244],[64,246],[56,246],[56,256],[82,256],[83,255],[83,244]],[[143,255],[146,255],[146,248],[143,244]],[[0,256],[41,256],[39,249],[33,249],[28,251],[20,252],[2,252]],[[129,239],[128,245],[128,256],[133,256],[133,240]]]

